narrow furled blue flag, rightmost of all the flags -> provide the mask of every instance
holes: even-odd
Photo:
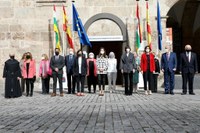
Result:
[[[157,1],[157,30],[158,30],[158,48],[159,50],[162,50],[162,27],[161,27],[159,1]]]

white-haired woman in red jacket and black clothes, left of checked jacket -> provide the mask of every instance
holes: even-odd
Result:
[[[89,58],[87,59],[87,81],[89,93],[91,93],[91,85],[93,85],[94,93],[96,93],[97,63],[96,59],[94,59],[94,53],[89,53]]]

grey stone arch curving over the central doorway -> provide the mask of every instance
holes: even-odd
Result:
[[[124,42],[127,41],[126,25],[123,23],[123,21],[119,17],[117,17],[113,14],[110,14],[110,13],[99,13],[99,14],[96,14],[93,17],[91,17],[84,25],[85,30],[87,31],[89,29],[90,25],[92,25],[94,22],[96,22],[98,20],[102,20],[102,19],[108,19],[108,20],[115,22],[121,30],[121,33],[123,36],[123,41]]]

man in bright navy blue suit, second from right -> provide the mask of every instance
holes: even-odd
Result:
[[[161,57],[161,70],[164,73],[165,94],[174,95],[174,75],[177,68],[176,53],[171,52],[171,46],[165,47],[166,53]]]

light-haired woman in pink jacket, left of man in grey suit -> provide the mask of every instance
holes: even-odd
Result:
[[[49,94],[49,81],[50,81],[50,63],[46,54],[42,55],[39,67],[39,76],[42,80],[42,94]]]

